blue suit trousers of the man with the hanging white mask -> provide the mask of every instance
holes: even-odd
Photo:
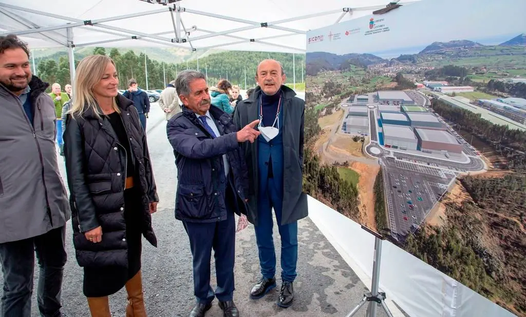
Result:
[[[281,236],[281,279],[294,282],[298,262],[298,222],[280,225],[283,207],[283,185],[280,177],[260,179],[258,197],[258,225],[256,242],[259,250],[261,274],[273,278],[276,274],[276,251],[272,238],[272,208],[276,213],[279,235]]]

